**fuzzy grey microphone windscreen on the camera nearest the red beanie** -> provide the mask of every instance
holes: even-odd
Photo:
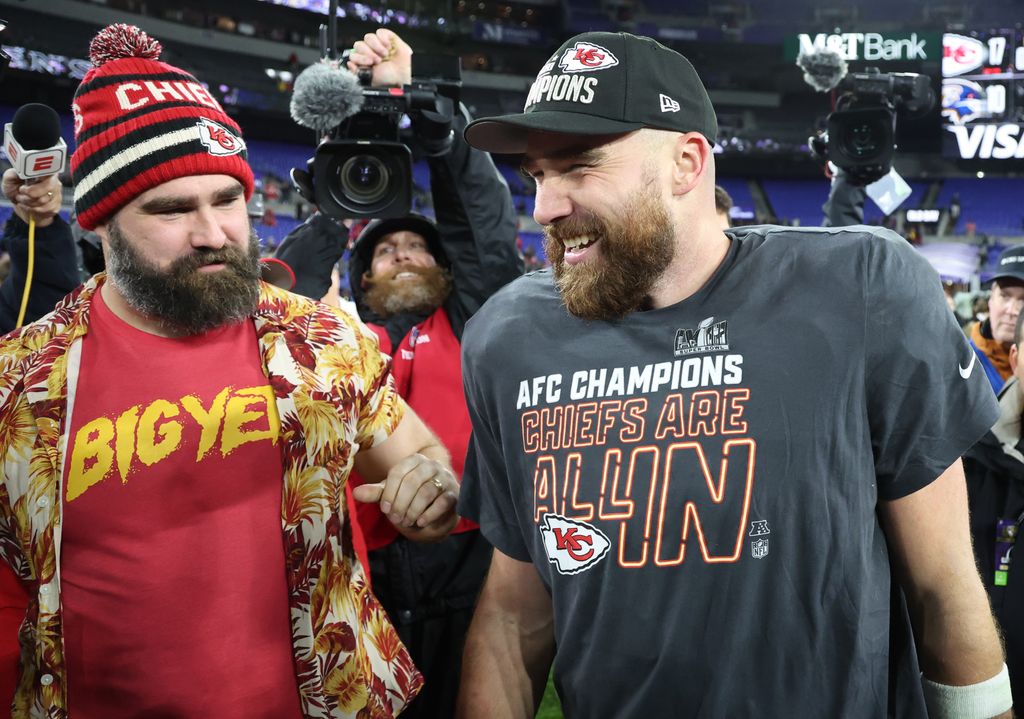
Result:
[[[324,133],[359,112],[362,87],[347,70],[315,62],[295,78],[292,119],[303,127]]]

